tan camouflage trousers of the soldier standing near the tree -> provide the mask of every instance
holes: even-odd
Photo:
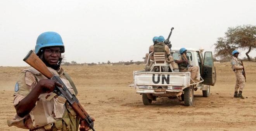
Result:
[[[245,79],[244,79],[244,75],[242,74],[242,69],[236,69],[235,70],[235,77],[237,78],[236,82],[235,82],[235,92],[242,91],[244,89],[245,86]]]

